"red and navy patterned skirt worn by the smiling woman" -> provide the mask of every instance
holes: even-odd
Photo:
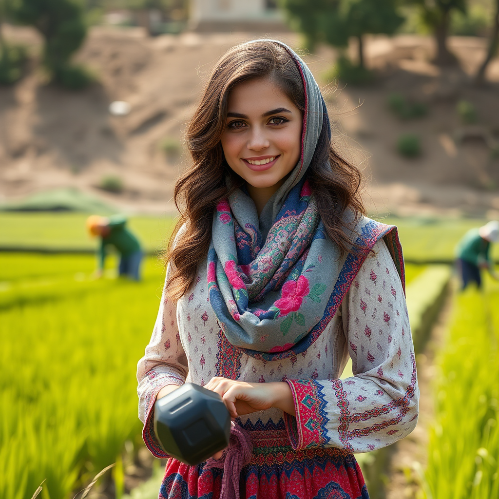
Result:
[[[293,451],[284,428],[254,430],[250,436],[253,455],[241,472],[242,499],[369,499],[353,454],[333,448]],[[224,499],[221,486],[221,469],[170,458],[159,499]]]

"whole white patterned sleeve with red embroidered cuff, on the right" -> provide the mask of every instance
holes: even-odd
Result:
[[[385,243],[374,250],[339,307],[336,334],[345,335],[354,376],[288,380],[296,418],[285,414],[285,421],[294,449],[368,452],[416,426],[419,390],[402,283]]]

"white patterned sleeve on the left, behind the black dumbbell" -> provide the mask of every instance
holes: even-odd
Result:
[[[167,271],[167,279],[169,272]],[[176,301],[163,295],[151,341],[137,365],[139,385],[139,418],[144,423],[142,436],[151,453],[168,457],[154,434],[154,403],[166,385],[182,385],[188,373],[187,357],[180,341],[176,317]]]

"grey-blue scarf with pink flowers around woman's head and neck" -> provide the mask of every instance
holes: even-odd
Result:
[[[403,281],[393,226],[350,214],[352,243],[362,247],[355,255],[340,256],[327,237],[305,176],[321,129],[330,134],[326,106],[306,64],[272,41],[289,52],[302,75],[301,158],[259,218],[242,190],[218,204],[208,252],[210,303],[222,331],[233,345],[265,360],[296,355],[317,339],[379,238],[385,237]]]

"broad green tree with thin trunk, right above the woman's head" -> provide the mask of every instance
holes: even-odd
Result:
[[[305,34],[310,49],[318,41],[337,47],[358,39],[358,65],[364,68],[365,34],[393,34],[403,22],[397,0],[285,0],[284,6]]]

